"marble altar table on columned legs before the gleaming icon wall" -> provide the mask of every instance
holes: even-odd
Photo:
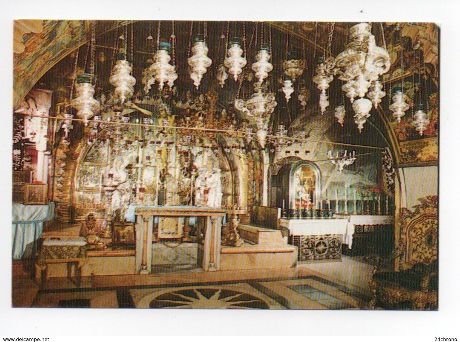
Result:
[[[127,221],[136,222],[136,272],[150,274],[154,217],[198,217],[202,239],[198,240],[198,262],[205,271],[220,267],[220,239],[225,211],[191,206],[130,206]]]

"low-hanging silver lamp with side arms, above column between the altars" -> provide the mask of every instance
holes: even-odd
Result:
[[[270,115],[278,103],[275,101],[275,94],[265,93],[262,86],[256,83],[255,92],[247,101],[235,100],[235,108],[242,111],[249,117],[253,117],[257,124],[257,138],[262,148],[265,148],[265,139],[268,135],[268,122]]]

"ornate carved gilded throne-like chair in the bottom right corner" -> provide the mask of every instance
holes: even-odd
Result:
[[[369,285],[374,295],[369,307],[377,301],[384,307],[403,307],[411,303],[416,310],[437,309],[437,196],[419,199],[414,211],[401,209],[399,244],[389,259],[379,259]],[[380,271],[382,262],[398,259],[398,272]]]

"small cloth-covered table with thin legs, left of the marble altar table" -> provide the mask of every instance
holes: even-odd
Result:
[[[86,239],[81,236],[49,237],[43,241],[36,261],[41,269],[41,286],[46,283],[50,263],[67,263],[67,276],[71,279],[72,265],[75,265],[75,285],[80,286],[81,267],[87,262]]]

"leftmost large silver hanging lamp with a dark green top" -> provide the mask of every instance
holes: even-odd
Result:
[[[77,109],[77,116],[83,119],[85,126],[88,119],[92,118],[100,109],[100,103],[94,99],[94,85],[92,85],[92,74],[80,74],[75,84],[76,96],[72,100],[72,107]]]

